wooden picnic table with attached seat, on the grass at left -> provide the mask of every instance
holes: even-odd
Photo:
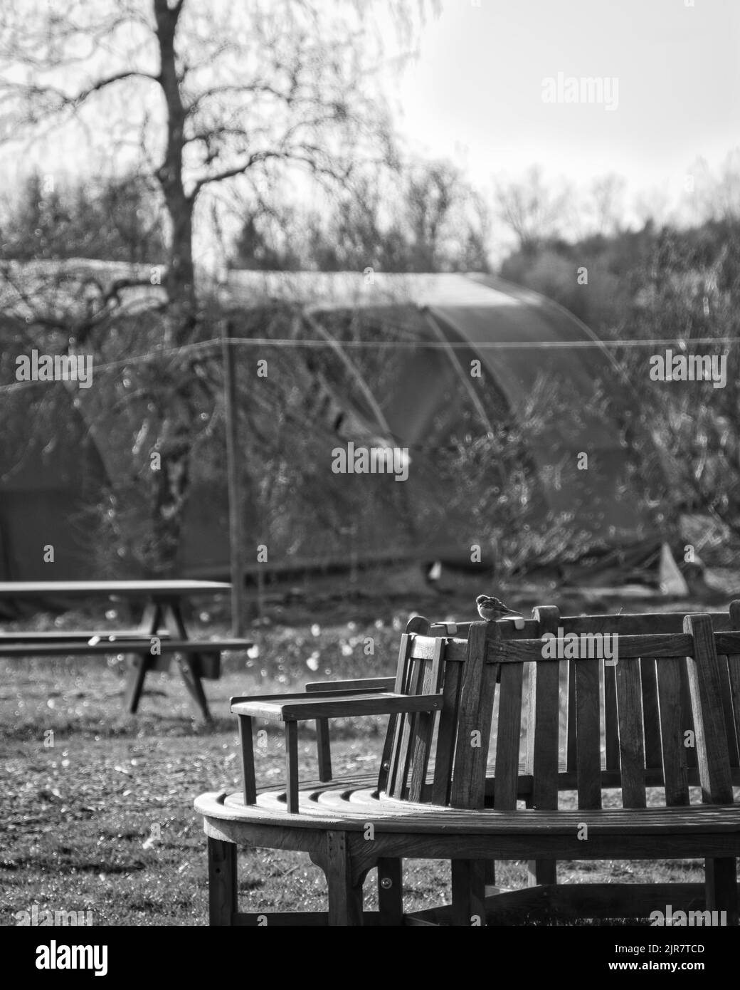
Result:
[[[0,656],[95,654],[125,652],[132,657],[125,703],[136,712],[146,673],[157,667],[162,654],[177,653],[178,666],[193,701],[204,718],[210,719],[202,677],[218,677],[222,649],[248,649],[246,640],[192,640],[183,617],[183,602],[196,596],[221,595],[231,591],[226,581],[133,580],[133,581],[2,581],[0,601],[31,601],[40,606],[49,600],[119,598],[142,602],[136,630],[99,630],[84,633],[0,632]],[[161,641],[152,653],[153,638]],[[138,650],[138,651],[135,651]]]

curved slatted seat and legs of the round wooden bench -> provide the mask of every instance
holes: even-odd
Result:
[[[325,787],[301,792],[300,813],[285,810],[284,791],[242,795],[202,794],[195,802],[208,836],[211,924],[214,925],[470,925],[466,900],[405,914],[402,859],[440,858],[472,867],[477,861],[526,859],[533,847],[558,859],[657,859],[740,855],[740,807],[702,805],[648,808],[625,817],[623,809],[497,812],[438,808],[379,798],[375,788]],[[368,826],[372,838],[368,839]],[[584,826],[589,839],[582,841]],[[243,913],[236,904],[236,848],[302,851],[324,870],[326,912]],[[707,859],[707,863],[712,860]],[[380,910],[363,911],[363,884],[377,867]],[[394,889],[394,885],[395,889]],[[624,908],[623,905],[629,905]],[[584,911],[613,917],[660,910],[701,910],[704,884],[545,884],[484,896],[477,924],[505,924],[529,913]],[[523,914],[522,914],[523,913]],[[730,915],[730,924],[732,924]]]

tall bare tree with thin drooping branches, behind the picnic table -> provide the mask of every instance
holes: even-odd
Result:
[[[377,9],[390,10],[386,22],[372,19]],[[383,26],[409,39],[419,12],[421,3],[372,0],[70,0],[63,11],[51,0],[9,0],[0,10],[0,140],[41,143],[53,156],[70,127],[122,154],[140,146],[169,226],[164,343],[182,345],[199,328],[199,204],[215,187],[264,185],[290,166],[342,181],[356,161],[386,158],[391,134],[373,69]],[[156,423],[143,426],[161,456],[151,499],[164,569],[179,544],[202,406],[198,367],[183,360],[178,374],[164,399],[157,381]]]

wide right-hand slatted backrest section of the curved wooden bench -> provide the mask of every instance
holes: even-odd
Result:
[[[555,611],[538,610],[538,624],[558,622]],[[569,641],[564,634],[558,636],[557,626],[552,630],[556,639],[543,641],[541,636],[522,638],[521,632],[526,630],[515,631],[511,623],[490,625],[485,665],[495,671],[488,679],[500,681],[492,741],[495,766],[493,778],[488,780],[495,808],[513,809],[517,798],[524,796],[522,761],[529,785],[527,804],[542,809],[558,807],[558,791],[564,789],[560,743],[564,695],[572,705],[569,735],[572,725],[575,730],[573,752],[570,740],[568,743],[566,786],[577,791],[580,808],[601,808],[603,774],[609,760],[618,776],[624,807],[645,807],[646,784],[650,783],[663,784],[667,805],[689,804],[688,754],[693,749],[702,800],[732,803],[730,763],[733,749],[736,756],[736,734],[730,739],[723,692],[726,677],[730,714],[737,725],[740,633],[714,632],[706,614],[686,616],[681,633],[634,634],[624,625],[629,632],[619,633],[616,662],[604,666],[604,659],[594,655],[598,649],[593,648],[593,640]],[[559,628],[563,629],[562,624]],[[569,650],[572,656],[565,685],[557,657],[567,656]],[[525,672],[526,725],[522,732]],[[611,677],[612,687],[608,689]],[[653,692],[654,709],[646,705],[646,683]],[[602,741],[608,740],[609,713],[614,738],[611,748],[604,743],[602,750]],[[491,695],[482,694],[476,716],[479,724],[494,720],[494,715]],[[656,749],[651,752],[649,743],[656,733]],[[655,770],[660,776],[652,780]],[[486,770],[483,772],[485,775]]]

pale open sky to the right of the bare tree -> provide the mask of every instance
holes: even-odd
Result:
[[[558,73],[561,97],[591,77],[602,102],[557,102],[557,88],[545,102]],[[444,0],[396,102],[412,147],[465,164],[484,192],[539,163],[674,199],[700,181],[696,159],[715,169],[740,143],[740,2]]]

